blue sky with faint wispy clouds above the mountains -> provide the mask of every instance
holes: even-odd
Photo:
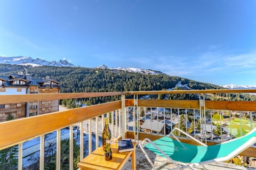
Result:
[[[256,85],[256,1],[0,1],[0,55]]]

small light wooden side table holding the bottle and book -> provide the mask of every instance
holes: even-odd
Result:
[[[103,156],[103,149],[102,147],[99,147],[98,149],[94,150],[91,154],[89,154],[87,157],[85,157],[83,160],[81,160],[81,162],[79,162],[77,166],[81,170],[122,169],[124,164],[127,162],[128,158],[131,156],[132,170],[135,170],[136,169],[135,146],[137,145],[137,142],[132,142],[132,144],[133,144],[133,151],[121,152],[121,153],[118,153],[117,143],[115,145],[111,145],[111,151],[113,152],[111,160],[105,160],[105,157]]]

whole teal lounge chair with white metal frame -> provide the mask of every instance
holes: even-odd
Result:
[[[174,130],[185,133],[178,128],[174,128],[173,131]],[[169,136],[173,135],[173,131],[169,134]],[[146,138],[141,142],[139,146],[153,169],[162,167],[164,164],[170,162],[176,166],[172,169],[194,169],[193,167],[229,160],[256,142],[256,128],[243,137],[229,140],[213,146],[206,146],[204,143],[193,138],[191,135],[187,133],[185,134],[200,143],[202,146],[189,145],[187,143],[180,142],[174,135],[174,138],[177,140],[173,140],[169,136],[165,136],[152,142]],[[167,161],[164,164],[155,167],[147,155],[145,148],[159,156],[167,158]]]

